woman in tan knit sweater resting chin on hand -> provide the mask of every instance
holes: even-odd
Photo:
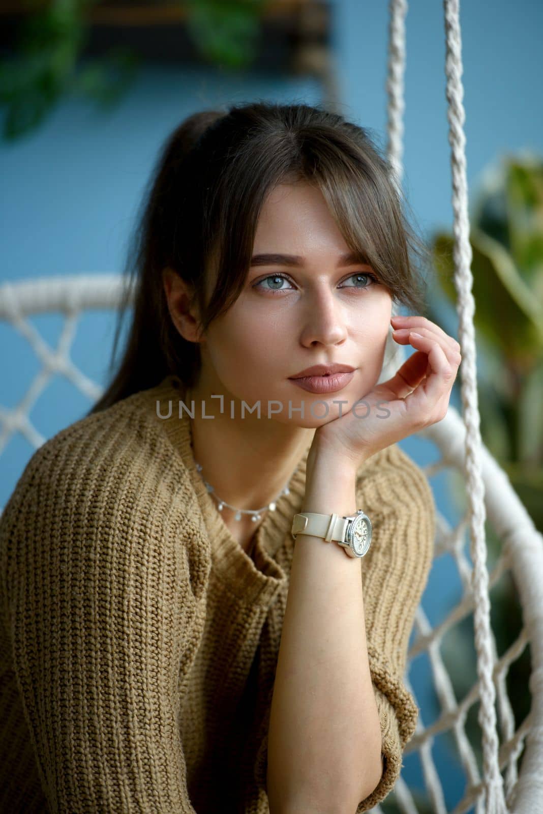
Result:
[[[2,810],[363,812],[393,787],[435,531],[397,442],[445,416],[460,354],[418,315],[389,179],[319,107],[169,138],[124,357],[2,515]],[[392,329],[416,352],[380,382]]]

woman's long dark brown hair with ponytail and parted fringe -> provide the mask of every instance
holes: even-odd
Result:
[[[393,300],[424,311],[426,282],[415,260],[428,260],[428,249],[367,129],[306,104],[261,101],[195,113],[167,138],[151,175],[128,251],[110,374],[132,299],[124,355],[89,414],[168,374],[193,387],[199,346],[172,322],[163,269],[191,284],[205,332],[241,293],[267,193],[298,180],[319,187],[345,243],[371,265]],[[211,266],[215,287],[206,301]]]

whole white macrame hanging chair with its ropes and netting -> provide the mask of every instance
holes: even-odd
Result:
[[[405,0],[389,2],[389,76],[388,91],[388,156],[393,182],[402,182],[402,114],[403,76],[405,69]],[[432,757],[432,744],[441,733],[452,733],[458,749],[459,763],[465,774],[462,799],[451,814],[475,809],[476,814],[538,814],[543,812],[543,536],[536,530],[519,501],[506,473],[484,447],[480,438],[477,400],[476,344],[473,326],[475,303],[471,295],[471,245],[467,217],[466,159],[463,133],[463,85],[461,35],[458,0],[445,0],[446,97],[449,103],[451,165],[454,209],[454,284],[458,293],[458,342],[462,348],[460,365],[463,417],[450,405],[445,418],[421,431],[419,435],[435,444],[440,459],[423,467],[428,478],[442,470],[463,475],[467,492],[467,514],[457,527],[437,510],[435,557],[450,554],[451,571],[458,568],[463,596],[435,628],[432,628],[422,604],[415,615],[415,641],[407,658],[406,687],[416,699],[408,678],[411,661],[428,654],[441,713],[424,726],[424,703],[417,729],[407,743],[404,754],[419,753],[424,784],[432,812],[447,814],[445,793]],[[46,278],[0,286],[0,320],[28,340],[41,362],[27,392],[14,408],[0,406],[0,454],[8,440],[19,432],[37,449],[45,438],[29,418],[33,406],[50,379],[62,376],[72,382],[91,402],[98,400],[103,389],[81,372],[70,357],[72,342],[81,315],[95,309],[119,309],[124,300],[124,280],[115,274],[77,275]],[[57,348],[41,337],[28,317],[39,313],[62,313],[65,317]],[[406,359],[406,348],[387,340],[385,363],[380,381],[389,379]],[[15,484],[13,484],[15,486]],[[0,509],[1,510],[1,509]],[[488,517],[500,540],[497,563],[489,575],[484,522]],[[464,532],[469,530],[473,566],[464,553]],[[490,625],[489,590],[510,571],[519,606],[522,629],[515,642],[497,658],[496,642]],[[455,575],[454,575],[455,576]],[[441,579],[444,576],[441,574]],[[476,671],[478,680],[460,701],[455,698],[449,673],[441,656],[441,640],[455,624],[473,614],[475,630]],[[529,681],[531,709],[515,729],[506,677],[510,664],[523,650],[531,647],[532,674]],[[526,688],[528,694],[528,687]],[[478,720],[482,742],[482,776],[467,737],[467,713],[480,703]],[[497,731],[499,713],[499,735]],[[519,766],[519,758],[522,762]],[[503,775],[502,775],[503,772]],[[413,790],[407,786],[403,772],[391,795],[402,814],[415,814]],[[387,800],[386,803],[389,801]],[[384,807],[386,806],[384,804]],[[428,808],[425,809],[427,811]],[[376,806],[374,812],[382,814]]]

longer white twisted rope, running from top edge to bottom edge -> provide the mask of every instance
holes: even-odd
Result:
[[[458,293],[458,341],[462,347],[461,396],[466,424],[464,470],[469,502],[471,530],[471,575],[475,598],[474,627],[477,652],[477,673],[480,677],[480,707],[478,720],[482,729],[483,774],[486,794],[486,814],[505,814],[503,778],[498,760],[496,730],[496,698],[493,685],[493,651],[490,632],[489,575],[486,570],[487,549],[484,537],[484,481],[481,465],[479,402],[476,379],[476,343],[473,315],[475,300],[471,293],[471,243],[467,209],[466,138],[463,132],[462,39],[458,0],[444,0],[445,16],[445,76],[448,102],[449,143],[453,182],[454,211],[454,285]]]

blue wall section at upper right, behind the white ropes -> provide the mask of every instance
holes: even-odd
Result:
[[[443,4],[409,3],[404,186],[425,230],[450,228],[450,147]],[[341,112],[384,137],[388,3],[336,0]],[[543,3],[460,3],[467,182],[501,155],[543,152]]]

